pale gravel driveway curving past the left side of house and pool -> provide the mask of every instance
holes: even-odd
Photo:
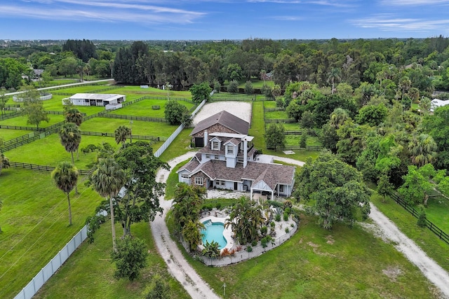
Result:
[[[173,168],[178,163],[192,158],[195,152],[189,152],[184,155],[180,155],[173,160],[168,161],[168,165]],[[169,171],[166,169],[159,169],[157,172],[157,180],[165,182],[168,179]],[[167,211],[170,209],[173,200],[164,200],[163,197],[159,198],[161,207],[163,207],[163,215],[154,218],[151,223],[154,242],[159,251],[159,254],[165,260],[168,271],[170,274],[180,281],[182,287],[185,288],[187,293],[192,298],[220,298],[218,297],[208,284],[206,284],[203,279],[195,272],[194,268],[187,262],[187,260],[182,256],[181,251],[177,248],[175,242],[170,237],[170,232],[164,218]]]

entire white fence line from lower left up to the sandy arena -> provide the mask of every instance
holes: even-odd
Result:
[[[195,111],[192,112],[192,118],[196,115],[196,113],[201,109],[204,104],[206,104],[206,100],[203,100],[201,104],[196,107]],[[162,146],[154,153],[154,156],[158,157],[162,155],[163,151],[165,151],[168,146],[171,144],[173,140],[177,137],[178,134],[184,129],[184,125],[180,125],[177,127],[175,132],[168,137],[168,139],[162,144]],[[74,251],[83,243],[83,241],[87,238],[87,226],[84,225],[83,228],[61,249],[58,254],[54,258],[48,262],[48,264],[36,274],[36,276],[29,281],[25,288],[22,288],[22,291],[18,293],[14,299],[31,299],[37,291],[46,283],[50,277],[55,274],[55,272],[59,269],[59,267],[65,263],[67,258],[74,253]]]

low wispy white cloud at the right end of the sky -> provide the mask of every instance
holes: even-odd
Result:
[[[395,18],[393,15],[375,15],[350,21],[361,28],[376,28],[396,32],[430,32],[448,30],[449,20],[425,20],[417,18]]]

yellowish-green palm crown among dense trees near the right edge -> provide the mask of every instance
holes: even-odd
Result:
[[[408,144],[412,163],[417,167],[429,164],[436,157],[436,142],[429,134],[420,134]]]

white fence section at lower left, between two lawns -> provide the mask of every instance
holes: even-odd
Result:
[[[81,228],[81,230],[67,243],[64,248],[62,248],[58,254],[54,258],[48,262],[45,267],[36,274],[36,276],[29,281],[25,288],[22,288],[22,291],[18,293],[14,299],[30,299],[32,298],[39,288],[46,283],[50,277],[55,274],[55,272],[59,269],[59,267],[65,263],[67,258],[74,253],[74,251],[78,248],[81,243],[87,238],[87,227],[86,225]]]

